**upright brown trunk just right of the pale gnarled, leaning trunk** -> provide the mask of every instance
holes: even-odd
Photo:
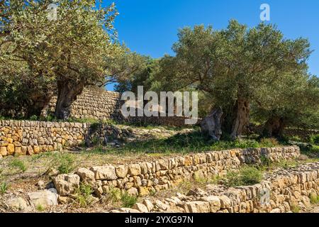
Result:
[[[233,119],[233,128],[230,133],[230,138],[235,140],[242,135],[242,132],[247,126],[250,117],[250,102],[246,99],[238,97],[236,104],[234,106],[234,119]]]

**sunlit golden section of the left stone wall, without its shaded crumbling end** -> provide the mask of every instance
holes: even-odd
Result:
[[[1,155],[33,155],[84,141],[86,123],[0,121]]]

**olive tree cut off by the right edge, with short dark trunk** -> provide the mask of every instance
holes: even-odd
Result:
[[[264,136],[281,138],[287,126],[319,128],[319,79],[309,74],[289,74],[264,91],[252,116],[264,121]]]

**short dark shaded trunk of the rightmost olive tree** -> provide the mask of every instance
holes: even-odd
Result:
[[[284,133],[285,126],[286,123],[284,118],[272,116],[264,124],[264,131],[262,132],[262,135],[265,137],[281,138]]]

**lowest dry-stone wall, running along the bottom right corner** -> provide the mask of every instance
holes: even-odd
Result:
[[[287,213],[307,211],[310,196],[319,195],[319,162],[279,170],[265,178],[252,186],[211,186],[213,189],[207,192],[197,189],[191,195],[177,193],[161,200],[145,199],[133,209],[111,212]]]

